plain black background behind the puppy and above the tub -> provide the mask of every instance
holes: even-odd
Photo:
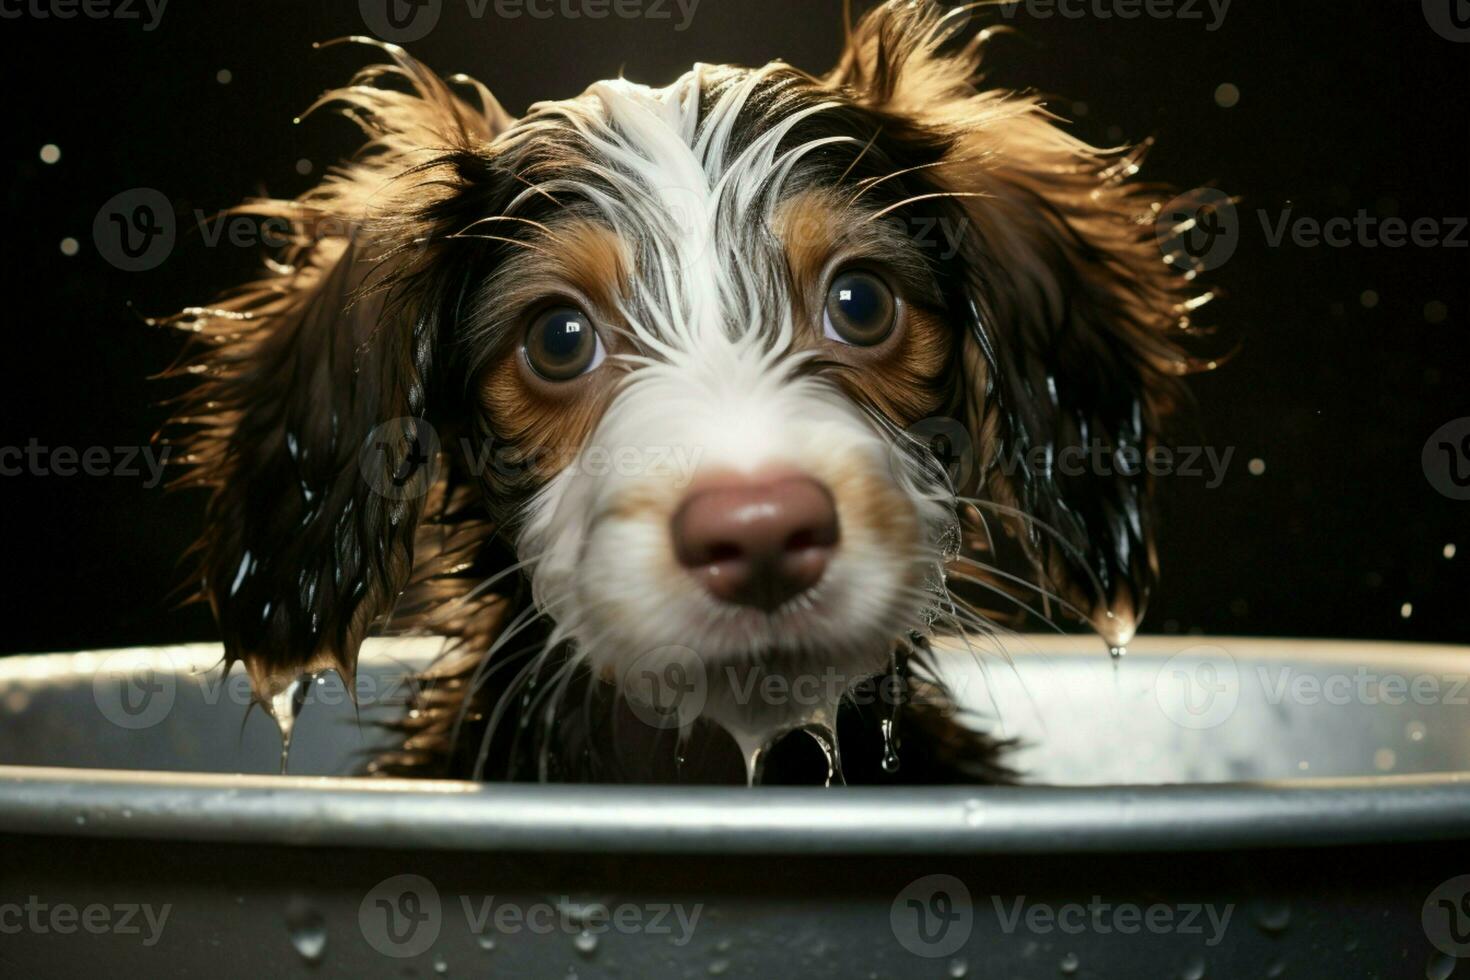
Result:
[[[1202,317],[1242,350],[1194,382],[1202,441],[1235,455],[1219,488],[1164,480],[1164,577],[1145,630],[1467,642],[1470,502],[1436,492],[1420,453],[1470,416],[1470,250],[1270,247],[1257,212],[1470,215],[1470,46],[1432,31],[1417,0],[1236,0],[1213,32],[1201,12],[1022,12],[1008,21],[1020,34],[989,57],[991,84],[1055,93],[1055,112],[1092,143],[1155,137],[1145,176],[1242,198],[1239,250],[1208,279],[1227,297]],[[784,57],[820,72],[841,43],[838,0],[703,0],[688,29],[678,21],[676,7],[672,21],[507,21],[494,6],[475,19],[466,0],[444,0],[438,26],[409,48],[441,73],[478,76],[519,113],[619,71],[666,84],[695,60]],[[310,43],[366,29],[354,0],[172,0],[153,31],[0,19],[0,447],[147,444],[171,392],[147,378],[178,338],[140,314],[207,303],[260,259],[207,247],[194,209],[294,195],[356,147],[340,118],[291,119],[375,60]],[[1241,93],[1229,109],[1216,98],[1225,82]],[[57,163],[41,160],[46,144],[60,147]],[[93,220],[140,187],[173,203],[179,241],[157,269],[129,273],[98,254]],[[1426,316],[1429,304],[1442,307]],[[169,598],[201,500],[146,479],[0,478],[0,651],[213,636],[203,608],[175,611]]]

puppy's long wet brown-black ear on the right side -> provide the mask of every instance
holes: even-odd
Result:
[[[978,91],[986,34],[958,37],[963,21],[929,0],[888,3],[826,81],[947,141],[925,176],[964,225],[979,488],[1014,511],[1061,595],[1123,644],[1157,577],[1144,461],[1197,367],[1180,342],[1208,295],[1191,300],[1164,262],[1157,188],[1126,182],[1142,154],[1083,144],[1035,98]]]

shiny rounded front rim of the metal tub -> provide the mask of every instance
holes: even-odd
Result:
[[[581,854],[1319,848],[1470,839],[1470,773],[748,790],[0,765],[0,833]]]

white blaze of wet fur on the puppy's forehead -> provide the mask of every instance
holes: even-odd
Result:
[[[784,287],[779,247],[769,232],[779,198],[773,191],[811,150],[860,143],[828,137],[778,153],[801,120],[836,104],[822,101],[769,122],[732,159],[741,113],[788,69],[773,63],[719,82],[720,94],[701,118],[713,71],[723,69],[695,66],[666,88],[598,82],[581,98],[542,107],[531,123],[537,128],[535,119],[553,112],[587,140],[587,166],[600,187],[570,178],[538,187],[591,201],[639,254],[637,297],[623,314],[654,357],[673,363],[720,357],[731,339],[789,344],[791,304],[772,295]],[[528,190],[517,203],[534,192],[539,191]]]

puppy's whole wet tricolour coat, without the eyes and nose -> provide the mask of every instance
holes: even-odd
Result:
[[[350,674],[373,626],[442,633],[381,771],[653,779],[701,726],[748,776],[782,733],[829,739],[875,676],[925,688],[926,638],[991,630],[982,595],[1030,588],[1129,633],[1155,573],[1148,478],[1017,463],[1147,453],[1202,298],[1154,239],[1157,192],[1126,179],[1141,153],[976,90],[985,35],[960,21],[885,3],[820,78],[701,65],[523,119],[392,46],[325,96],[369,145],[238,209],[293,244],[172,320],[201,345],[175,428],[182,482],[213,491],[198,577],[228,660],[269,702],[301,670]],[[872,347],[823,329],[842,269],[897,297]],[[548,303],[606,348],[573,381],[522,348]],[[958,485],[906,433],[935,416],[972,444]],[[820,482],[841,529],[773,613],[706,594],[670,539],[691,486],[763,473]],[[1007,547],[1020,564],[992,567]],[[675,746],[619,735],[667,671],[698,679]],[[925,738],[908,773],[1001,773],[953,711],[900,708]]]

